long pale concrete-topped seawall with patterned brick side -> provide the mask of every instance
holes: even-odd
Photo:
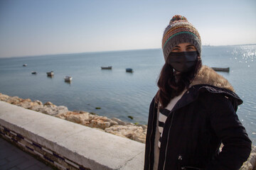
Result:
[[[59,157],[59,169],[68,168],[61,164],[67,160],[74,169],[143,169],[145,145],[124,137],[95,130],[60,118],[38,113],[0,101],[1,135],[21,135],[24,143],[35,149],[43,148]],[[5,134],[5,132],[6,134]],[[6,135],[7,136],[7,135]],[[16,135],[17,136],[17,135]],[[21,137],[21,140],[22,140]],[[11,139],[11,137],[8,137]],[[21,145],[24,143],[19,142]],[[28,147],[30,148],[30,147]],[[43,156],[42,156],[43,155]],[[57,157],[56,156],[56,157]],[[65,163],[66,163],[65,162]]]

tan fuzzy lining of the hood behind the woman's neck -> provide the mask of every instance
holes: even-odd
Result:
[[[231,86],[227,79],[206,65],[201,67],[195,79],[193,79],[191,86],[198,84],[209,84],[235,92],[233,86]]]

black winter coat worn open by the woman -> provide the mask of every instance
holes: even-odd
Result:
[[[192,86],[170,111],[161,140],[160,169],[239,169],[251,141],[236,111],[242,100],[228,89]],[[149,109],[144,170],[153,169],[157,103]],[[224,147],[219,152],[220,144]]]

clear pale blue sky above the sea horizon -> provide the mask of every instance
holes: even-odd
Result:
[[[176,14],[203,45],[256,44],[255,0],[0,0],[0,57],[161,48]]]

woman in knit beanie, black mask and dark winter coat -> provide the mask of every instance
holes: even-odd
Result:
[[[200,35],[185,17],[171,19],[162,48],[144,169],[239,169],[251,150],[235,113],[242,100],[226,79],[202,66]]]

